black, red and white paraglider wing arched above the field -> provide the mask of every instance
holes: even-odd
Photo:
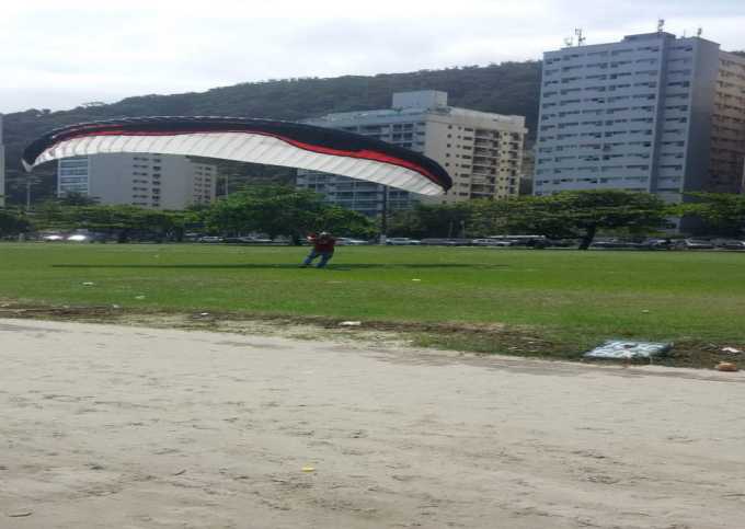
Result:
[[[23,152],[26,171],[60,158],[150,152],[220,158],[341,174],[438,195],[447,172],[423,154],[343,130],[268,119],[137,117],[72,125],[48,133]]]

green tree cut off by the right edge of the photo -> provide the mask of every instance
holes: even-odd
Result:
[[[745,228],[745,195],[731,193],[689,193],[694,203],[677,207],[683,216],[700,218],[709,232],[741,235]]]

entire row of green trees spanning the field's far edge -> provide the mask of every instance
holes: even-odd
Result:
[[[566,192],[509,200],[425,205],[389,216],[387,235],[478,239],[498,234],[576,239],[587,249],[599,233],[627,238],[658,234],[681,218],[710,235],[737,238],[745,229],[745,196],[691,194],[694,202],[668,205],[655,195],[623,191]],[[206,234],[279,235],[298,243],[307,233],[377,239],[381,219],[329,205],[321,195],[290,186],[253,186],[210,206],[160,211],[134,206],[102,206],[88,197],[47,202],[32,212],[0,210],[0,235],[32,230],[105,233],[119,242],[145,234],[181,241],[187,230]],[[695,222],[694,222],[695,221]]]

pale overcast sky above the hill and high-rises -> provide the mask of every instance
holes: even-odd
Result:
[[[656,20],[745,49],[743,0],[22,0],[0,10],[0,112],[247,81],[540,58]]]

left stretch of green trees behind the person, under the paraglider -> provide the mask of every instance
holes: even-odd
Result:
[[[376,222],[368,217],[329,205],[316,193],[288,186],[254,186],[210,206],[180,211],[99,205],[80,195],[48,200],[33,211],[12,207],[0,210],[0,237],[74,230],[122,243],[131,239],[180,242],[190,230],[222,235],[259,232],[273,239],[284,235],[295,243],[312,231],[366,239],[378,232]]]

